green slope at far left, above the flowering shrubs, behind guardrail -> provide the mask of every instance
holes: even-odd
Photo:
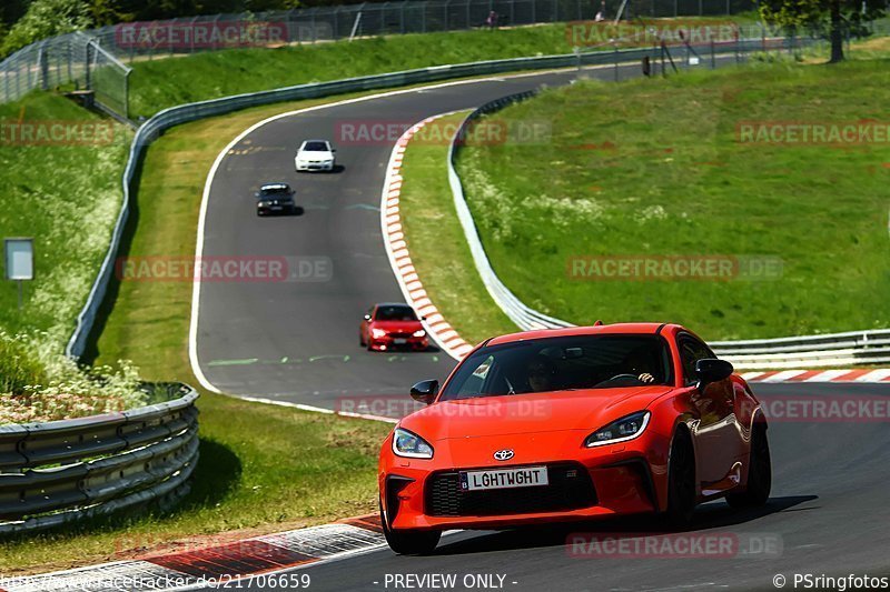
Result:
[[[0,104],[0,234],[32,237],[33,281],[24,282],[18,310],[14,282],[0,285],[0,327],[10,333],[47,332],[61,348],[96,279],[120,208],[120,174],[131,139],[128,128],[85,111],[68,99],[36,92]],[[19,122],[49,129],[110,127],[110,142],[19,143]],[[31,128],[34,129],[34,128]],[[13,136],[13,133],[16,136]]]

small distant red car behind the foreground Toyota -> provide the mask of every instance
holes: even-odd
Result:
[[[429,348],[429,338],[417,313],[409,305],[396,302],[372,307],[362,320],[358,339],[369,351]]]

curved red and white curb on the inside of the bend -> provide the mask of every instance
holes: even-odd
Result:
[[[403,181],[402,159],[405,155],[408,142],[424,126],[448,114],[451,113],[442,113],[415,123],[396,141],[396,146],[389,155],[389,164],[386,168],[386,179],[384,180],[383,194],[380,195],[380,230],[383,231],[383,242],[386,247],[386,254],[389,258],[389,265],[393,268],[393,273],[395,273],[405,301],[418,314],[426,318],[424,327],[433,341],[448,355],[455,360],[461,360],[469,353],[473,345],[464,341],[457,334],[457,331],[448,324],[429,299],[429,294],[424,290],[423,282],[421,282],[408,253],[408,243],[403,231],[402,214],[398,208]]]

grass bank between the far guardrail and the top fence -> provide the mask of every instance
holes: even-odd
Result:
[[[751,22],[750,16],[733,19]],[[684,26],[726,21],[681,20]],[[496,31],[376,37],[278,49],[233,49],[136,61],[130,79],[130,113],[132,117],[151,116],[176,104],[306,82],[477,60],[571,53],[571,33],[566,34],[566,23],[554,23]],[[587,43],[585,40],[583,44]],[[651,40],[643,40],[643,43],[651,44]]]

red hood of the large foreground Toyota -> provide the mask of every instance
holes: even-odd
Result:
[[[431,443],[513,433],[594,431],[646,409],[671,387],[590,389],[443,401],[402,420]]]

